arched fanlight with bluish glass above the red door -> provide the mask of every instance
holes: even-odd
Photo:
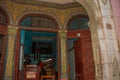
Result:
[[[77,14],[72,16],[67,22],[67,30],[84,30],[88,27],[89,17],[84,14]]]

